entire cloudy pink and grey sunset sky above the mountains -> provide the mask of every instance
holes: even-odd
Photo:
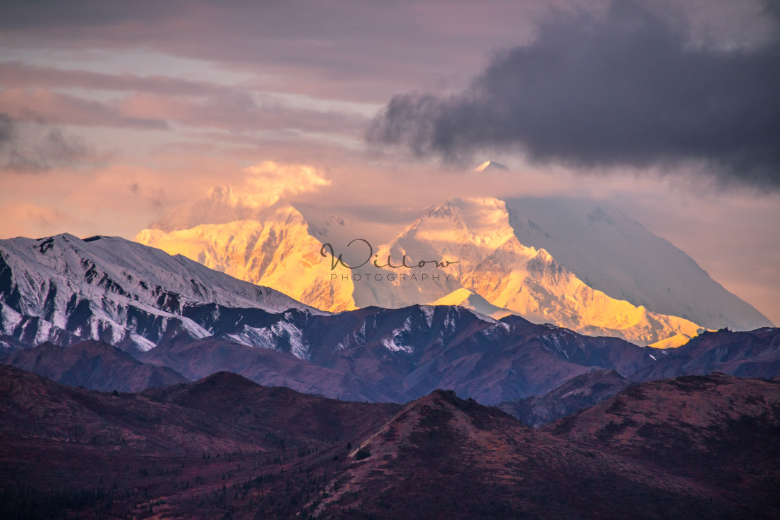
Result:
[[[587,196],[780,324],[780,2],[0,10],[0,238],[132,239],[225,185],[378,226],[449,196]],[[487,160],[509,170],[474,175]],[[319,180],[280,188],[283,168]]]

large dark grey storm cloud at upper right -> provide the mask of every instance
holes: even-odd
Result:
[[[635,2],[555,19],[462,93],[393,97],[368,139],[445,160],[506,147],[583,167],[704,159],[725,179],[780,187],[776,26],[760,48],[724,50],[670,20]]]

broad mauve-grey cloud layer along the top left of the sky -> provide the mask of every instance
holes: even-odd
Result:
[[[252,73],[267,90],[381,103],[410,84],[453,79],[459,69],[466,77],[497,37],[523,38],[547,9],[527,0],[42,0],[6,6],[0,30],[3,41],[27,48],[141,48]]]

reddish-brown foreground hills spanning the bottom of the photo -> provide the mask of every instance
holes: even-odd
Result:
[[[2,518],[774,518],[780,381],[628,387],[534,430],[436,390],[335,401],[232,373],[142,393],[0,365]]]

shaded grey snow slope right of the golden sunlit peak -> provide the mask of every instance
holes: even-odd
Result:
[[[696,261],[619,211],[587,200],[509,199],[509,224],[525,246],[545,249],[585,284],[615,299],[703,327],[772,327]]]

